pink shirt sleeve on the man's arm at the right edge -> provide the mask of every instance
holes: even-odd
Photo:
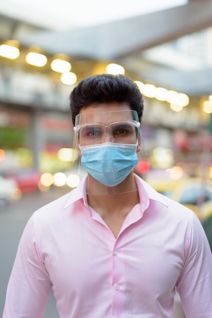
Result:
[[[185,240],[185,263],[177,291],[187,318],[212,317],[212,257],[202,225],[193,213]]]

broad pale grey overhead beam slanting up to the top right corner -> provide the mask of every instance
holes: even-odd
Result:
[[[97,59],[130,56],[212,25],[211,0],[89,27],[46,31],[21,37],[51,53],[58,50]]]

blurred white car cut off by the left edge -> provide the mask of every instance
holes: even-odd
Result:
[[[18,188],[18,184],[15,180],[0,176],[0,209],[4,207],[7,202],[20,199],[21,194],[21,190]]]

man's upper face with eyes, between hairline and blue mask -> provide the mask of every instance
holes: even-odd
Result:
[[[137,152],[140,150],[140,136],[135,126],[133,111],[128,104],[91,104],[81,109],[80,114],[79,146],[105,142],[137,143]]]

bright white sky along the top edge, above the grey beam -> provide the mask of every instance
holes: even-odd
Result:
[[[0,14],[52,30],[70,30],[186,5],[188,0],[7,0]]]

